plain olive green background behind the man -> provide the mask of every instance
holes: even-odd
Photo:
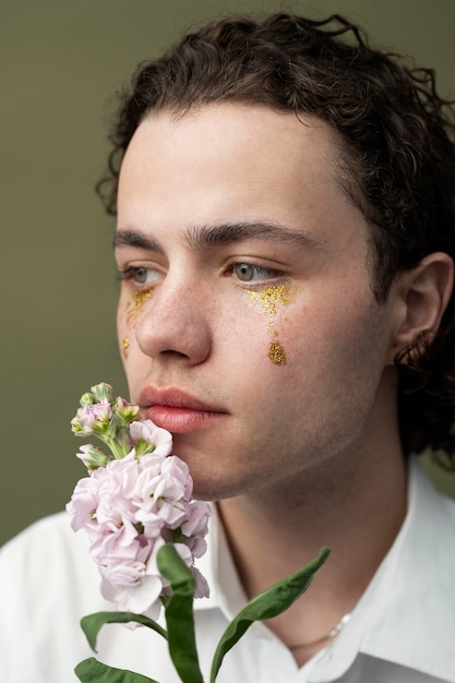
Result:
[[[84,468],[69,423],[117,350],[113,221],[93,185],[112,94],[136,63],[214,15],[343,12],[435,67],[455,96],[454,0],[2,0],[0,8],[0,543],[59,511]],[[455,493],[454,476],[438,483]]]

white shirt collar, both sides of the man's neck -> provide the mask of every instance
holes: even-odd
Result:
[[[247,600],[215,506],[209,526],[199,566],[211,597],[194,608],[218,608],[231,620]],[[454,577],[455,503],[434,490],[412,457],[406,519],[350,621],[315,656],[314,680],[339,678],[363,652],[455,683]]]

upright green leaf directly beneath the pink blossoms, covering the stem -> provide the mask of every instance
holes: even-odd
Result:
[[[172,588],[165,601],[165,614],[173,666],[183,683],[204,683],[194,635],[194,577],[171,543],[158,550],[157,563]]]

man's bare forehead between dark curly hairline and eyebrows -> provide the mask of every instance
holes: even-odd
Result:
[[[359,213],[344,190],[339,149],[327,123],[264,106],[151,115],[122,163],[119,224],[133,212],[168,227],[260,218],[328,226]]]

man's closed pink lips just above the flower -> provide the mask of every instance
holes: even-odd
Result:
[[[227,412],[177,388],[146,387],[141,392],[141,416],[175,434],[207,428]]]

